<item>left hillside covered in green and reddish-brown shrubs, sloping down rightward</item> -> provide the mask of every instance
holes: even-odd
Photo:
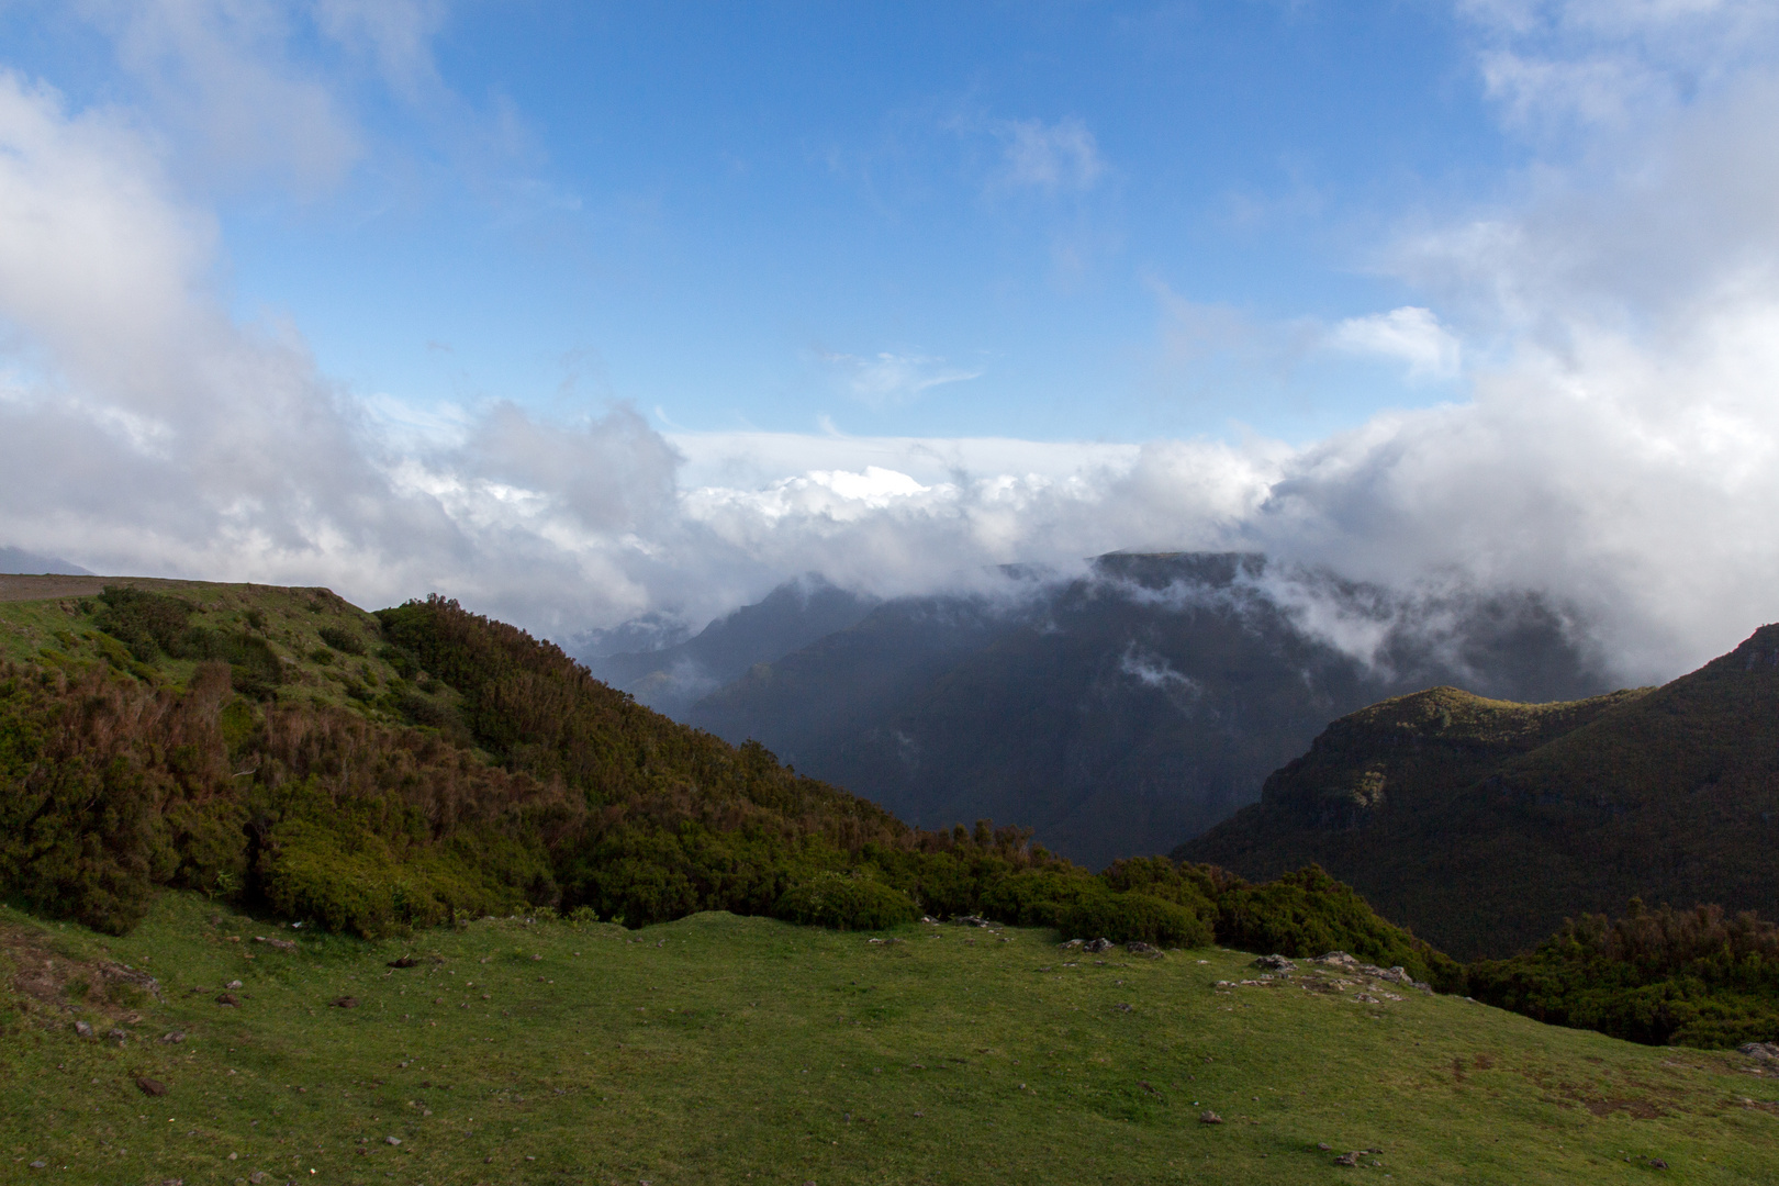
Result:
[[[96,583],[0,603],[0,891],[126,934],[158,887],[381,937],[546,910],[882,928],[987,912],[1082,937],[1455,964],[1313,871],[1094,875],[1030,834],[909,829],[431,597]],[[27,587],[27,592],[30,589]]]

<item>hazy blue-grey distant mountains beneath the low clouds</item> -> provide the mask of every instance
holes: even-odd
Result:
[[[1379,590],[1293,576],[1382,635],[1379,663],[1306,629],[1261,557],[1110,555],[1018,596],[884,603],[685,720],[758,738],[916,825],[1019,820],[1103,866],[1224,820],[1329,720],[1381,697],[1455,679],[1530,699],[1606,686],[1535,599],[1386,621]]]

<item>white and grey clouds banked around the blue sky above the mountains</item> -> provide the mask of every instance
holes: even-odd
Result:
[[[1704,0],[1466,11],[1537,167],[1393,240],[1386,267],[1427,304],[1332,341],[1459,375],[1468,398],[1302,448],[669,437],[621,405],[564,423],[366,400],[295,329],[226,311],[217,222],[135,114],[0,75],[0,544],[366,605],[445,590],[553,637],[701,624],[808,571],[898,594],[1242,548],[1404,590],[1539,592],[1624,679],[1672,676],[1779,617],[1779,71],[1747,50],[1770,23]],[[429,76],[413,28],[375,34],[404,85]],[[117,36],[151,78],[196,69],[160,25]],[[1711,57],[1724,37],[1735,55]],[[286,69],[229,78],[320,101]],[[279,169],[322,185],[349,165],[359,132],[326,116]],[[1085,133],[1037,132],[1010,140],[1021,176],[1092,181]],[[857,381],[964,377],[893,361],[859,359]]]

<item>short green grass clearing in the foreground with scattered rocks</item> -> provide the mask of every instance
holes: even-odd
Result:
[[[1050,932],[950,925],[872,942],[728,914],[368,944],[212,918],[167,894],[105,939],[0,914],[0,1179],[1779,1181],[1779,1078],[1740,1056],[1418,992],[1219,989],[1256,974],[1235,951],[1067,955]],[[420,964],[388,967],[404,953]],[[149,969],[165,1003],[46,996],[101,958]],[[233,980],[238,1006],[217,1005]],[[1352,1149],[1381,1152],[1332,1163]]]

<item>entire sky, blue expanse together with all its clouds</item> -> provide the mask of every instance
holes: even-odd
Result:
[[[1247,549],[1667,677],[1779,619],[1774,126],[1770,0],[0,0],[0,546],[559,638]]]

